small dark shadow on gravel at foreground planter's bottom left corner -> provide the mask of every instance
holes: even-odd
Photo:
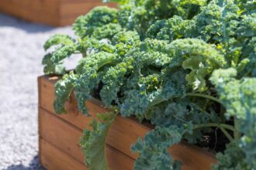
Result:
[[[45,170],[38,160],[38,156],[35,156],[33,160],[29,163],[29,166],[24,165],[10,165],[8,168],[2,170]]]

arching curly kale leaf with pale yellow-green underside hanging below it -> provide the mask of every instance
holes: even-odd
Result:
[[[222,53],[199,39],[177,39],[168,48],[173,56],[170,67],[182,66],[191,70],[186,80],[193,90],[207,90],[206,75],[226,65]]]

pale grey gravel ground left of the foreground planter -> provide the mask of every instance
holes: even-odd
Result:
[[[36,77],[43,74],[43,42],[54,33],[72,36],[71,27],[56,29],[0,14],[1,170],[42,169],[37,157]]]

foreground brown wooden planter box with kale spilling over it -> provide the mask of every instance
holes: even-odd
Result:
[[[87,169],[84,156],[78,145],[82,131],[89,128],[89,123],[97,113],[107,112],[99,100],[86,102],[92,117],[85,117],[78,112],[76,101],[71,97],[67,101],[67,114],[54,114],[54,83],[58,77],[40,76],[39,85],[39,134],[40,163],[47,169]],[[106,140],[106,153],[111,170],[133,169],[137,154],[130,151],[130,146],[139,136],[150,131],[149,124],[140,124],[131,118],[116,117]],[[182,170],[207,170],[216,159],[213,154],[182,142],[169,149],[176,160],[182,162]]]

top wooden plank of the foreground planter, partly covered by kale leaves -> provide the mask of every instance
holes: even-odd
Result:
[[[57,76],[40,76],[39,78],[39,105],[50,113],[54,113],[54,83],[56,83],[58,79]],[[109,111],[106,107],[102,106],[102,103],[99,100],[88,100],[86,104],[92,117],[88,118],[79,113],[74,96],[72,96],[65,104],[68,114],[56,114],[56,116],[82,130],[89,128],[89,122],[92,121],[92,118],[95,117],[97,113],[105,113]],[[130,146],[137,141],[138,137],[143,138],[151,128],[152,126],[149,124],[140,124],[132,118],[117,116],[109,131],[106,143],[112,148],[121,151],[123,154],[130,156],[130,158],[136,159],[138,155],[131,153]],[[169,149],[169,152],[175,160],[182,162],[183,170],[207,170],[210,169],[211,164],[216,163],[213,154],[202,148],[188,145],[185,142],[174,145]]]

